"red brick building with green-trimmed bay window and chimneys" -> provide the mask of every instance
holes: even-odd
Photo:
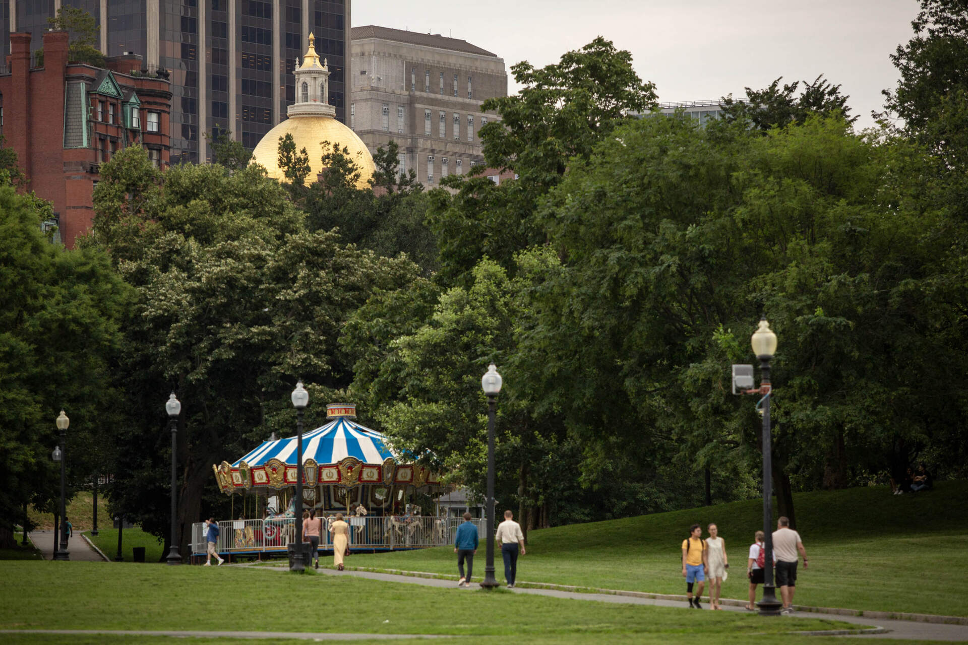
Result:
[[[141,57],[107,59],[107,69],[68,61],[68,33],[44,33],[44,67],[31,67],[29,33],[10,34],[9,73],[0,74],[0,133],[16,151],[28,188],[53,203],[61,240],[73,248],[91,226],[99,164],[142,145],[169,161],[171,91],[141,75]]]

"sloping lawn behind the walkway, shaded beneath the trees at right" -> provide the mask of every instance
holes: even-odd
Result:
[[[799,570],[795,602],[968,616],[962,572],[968,570],[968,482],[939,482],[933,491],[892,495],[883,486],[795,496],[798,530],[809,569]],[[713,522],[726,541],[731,575],[723,597],[745,599],[745,563],[762,528],[761,500],[561,526],[529,532],[518,580],[663,594],[684,594],[681,542],[688,527]],[[484,542],[474,578],[484,574]],[[495,569],[503,578],[500,553]],[[349,566],[436,572],[456,578],[451,547],[353,554]]]

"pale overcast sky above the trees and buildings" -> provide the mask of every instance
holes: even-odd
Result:
[[[352,24],[432,32],[493,51],[510,67],[555,63],[604,36],[632,52],[661,102],[718,99],[823,73],[850,96],[857,126],[873,125],[896,70],[888,58],[912,36],[916,0],[356,0]]]

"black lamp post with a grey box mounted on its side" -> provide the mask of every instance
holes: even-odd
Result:
[[[761,616],[779,616],[783,603],[776,600],[773,586],[773,470],[770,434],[770,361],[776,352],[776,335],[766,318],[760,320],[750,339],[753,353],[760,359],[760,392],[763,394],[763,599],[759,601]]]

